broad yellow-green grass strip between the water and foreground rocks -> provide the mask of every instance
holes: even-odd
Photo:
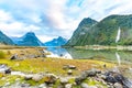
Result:
[[[90,68],[102,69],[106,64],[108,68],[112,68],[114,64],[94,59],[59,59],[59,58],[33,58],[24,61],[1,59],[0,64],[7,64],[12,70],[24,73],[53,73],[55,75],[67,75],[67,70],[63,69],[64,65],[75,65],[77,70],[73,70],[74,75],[80,74],[82,70]]]

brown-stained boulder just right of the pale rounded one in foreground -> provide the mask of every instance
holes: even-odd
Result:
[[[55,84],[56,80],[57,80],[57,76],[55,76],[53,74],[48,74],[45,76],[46,84]]]

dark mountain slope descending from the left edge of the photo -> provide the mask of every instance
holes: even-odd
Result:
[[[7,36],[6,34],[3,34],[1,31],[0,31],[0,43],[2,44],[8,44],[8,45],[13,45],[13,41]]]

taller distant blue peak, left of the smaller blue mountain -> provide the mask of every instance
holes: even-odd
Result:
[[[20,46],[42,46],[43,43],[36,37],[34,32],[28,32],[22,37],[11,37]]]

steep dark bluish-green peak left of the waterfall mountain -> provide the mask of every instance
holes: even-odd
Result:
[[[66,45],[81,45],[82,41],[85,41],[84,37],[86,37],[86,33],[88,33],[96,23],[97,21],[90,18],[84,19]]]

